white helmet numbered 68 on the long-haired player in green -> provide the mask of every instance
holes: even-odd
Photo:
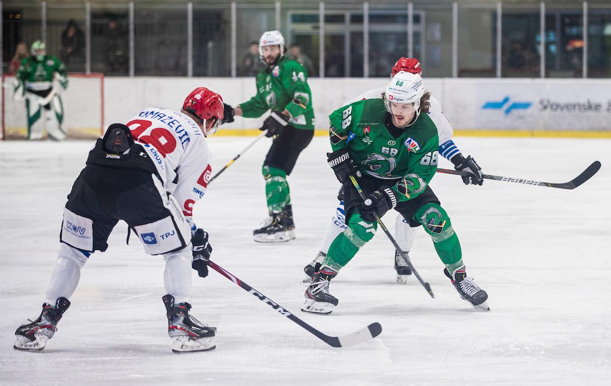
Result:
[[[413,123],[420,115],[420,98],[425,92],[420,75],[399,71],[386,85],[384,93],[386,111],[393,114],[392,104],[408,105],[406,111],[415,112],[415,118],[411,121]]]

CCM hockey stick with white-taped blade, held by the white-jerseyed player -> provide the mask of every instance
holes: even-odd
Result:
[[[348,335],[343,335],[342,337],[329,337],[329,335],[324,335],[324,333],[320,332],[319,330],[316,330],[314,327],[302,321],[297,316],[290,313],[290,311],[287,311],[285,310],[285,308],[280,307],[280,305],[278,305],[276,302],[273,302],[271,299],[269,299],[264,294],[260,293],[259,291],[252,288],[251,286],[247,285],[246,283],[244,283],[242,280],[238,279],[234,275],[230,274],[229,271],[225,270],[224,268],[221,268],[220,266],[218,266],[218,264],[213,263],[213,261],[208,261],[208,266],[214,269],[214,271],[219,272],[219,274],[223,275],[227,279],[231,280],[233,283],[243,288],[244,291],[247,291],[248,293],[253,294],[257,299],[269,305],[269,307],[274,308],[274,310],[278,311],[280,315],[286,316],[288,319],[291,319],[291,321],[299,324],[299,326],[303,327],[308,332],[312,333],[312,335],[315,335],[317,338],[324,341],[324,343],[329,344],[329,346],[332,346],[332,347],[352,346],[353,344],[362,343],[371,338],[375,338],[378,335],[380,335],[380,333],[382,332],[382,326],[380,326],[380,324],[376,322],[376,323],[371,323],[369,326],[364,327],[358,331],[349,333]]]

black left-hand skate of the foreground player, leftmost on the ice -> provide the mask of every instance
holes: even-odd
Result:
[[[57,331],[57,322],[68,307],[70,307],[70,301],[65,297],[56,300],[55,308],[48,303],[43,304],[38,319],[20,326],[15,331],[17,340],[13,348],[24,351],[40,351],[45,348],[46,341],[53,338]]]

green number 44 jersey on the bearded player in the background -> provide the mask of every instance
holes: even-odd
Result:
[[[258,118],[269,109],[290,112],[290,125],[298,129],[314,129],[312,93],[307,84],[307,71],[296,60],[282,57],[271,71],[257,74],[257,95],[240,104],[242,116]]]

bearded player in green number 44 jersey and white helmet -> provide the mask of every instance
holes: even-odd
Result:
[[[279,31],[262,35],[259,54],[266,68],[257,74],[257,95],[235,109],[225,104],[223,123],[233,122],[234,115],[257,118],[271,110],[260,128],[274,137],[262,170],[269,217],[253,236],[258,242],[284,242],[295,238],[287,176],[314,135],[312,93],[305,68],[284,56]]]

